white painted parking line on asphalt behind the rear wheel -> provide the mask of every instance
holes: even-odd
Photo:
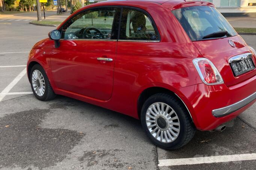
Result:
[[[177,165],[193,165],[193,164],[209,164],[231,161],[246,161],[256,160],[256,154],[237,154],[237,155],[222,155],[212,157],[198,157],[198,158],[181,158],[181,159],[167,159],[159,160],[158,166],[177,166]]]

